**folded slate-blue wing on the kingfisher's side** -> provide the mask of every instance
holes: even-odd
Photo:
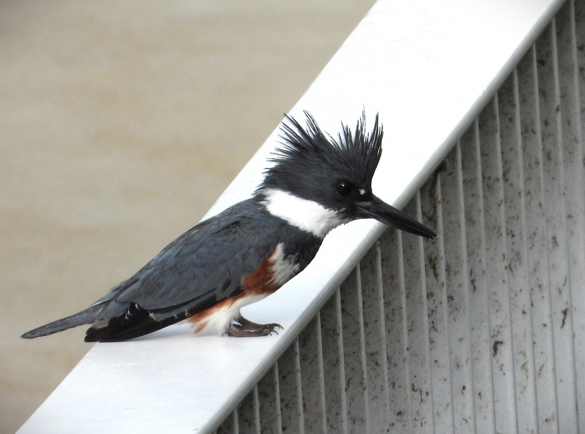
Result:
[[[165,247],[113,299],[154,312],[214,304],[242,292],[242,278],[278,243],[274,219],[250,206],[232,207]]]

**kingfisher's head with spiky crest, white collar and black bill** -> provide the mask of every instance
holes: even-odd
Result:
[[[371,191],[382,154],[383,128],[377,115],[371,133],[366,132],[363,115],[353,131],[342,123],[336,138],[322,132],[308,112],[305,115],[306,129],[287,116],[288,123],[281,126],[283,146],[256,191],[271,213],[320,236],[363,218],[415,235],[436,236]]]

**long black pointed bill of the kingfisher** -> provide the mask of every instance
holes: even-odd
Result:
[[[386,204],[376,196],[372,196],[369,201],[357,202],[356,206],[363,218],[376,219],[378,222],[384,223],[384,225],[394,226],[396,229],[424,236],[425,238],[435,238],[437,236],[433,230],[409,217],[400,209]]]

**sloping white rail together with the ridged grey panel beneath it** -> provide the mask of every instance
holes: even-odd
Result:
[[[379,1],[291,114],[380,112],[374,191],[438,239],[339,228],[247,308],[279,336],[97,344],[19,433],[585,432],[584,71],[583,1]]]

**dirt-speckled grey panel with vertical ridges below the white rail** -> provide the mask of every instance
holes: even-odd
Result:
[[[568,2],[218,433],[585,432],[585,2]]]

